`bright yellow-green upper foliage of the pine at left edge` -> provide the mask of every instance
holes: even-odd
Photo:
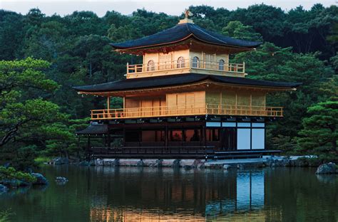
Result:
[[[24,98],[24,90],[57,88],[42,72],[48,65],[46,61],[32,58],[0,61],[0,147],[19,135],[28,137],[26,129],[61,117],[58,105],[41,98]]]

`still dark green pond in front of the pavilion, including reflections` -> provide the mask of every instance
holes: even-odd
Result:
[[[49,186],[0,196],[11,221],[338,221],[338,176],[314,169],[39,171]],[[69,181],[57,185],[56,176]]]

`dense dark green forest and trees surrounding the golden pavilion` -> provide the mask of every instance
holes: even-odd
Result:
[[[327,138],[317,125],[329,112],[319,107],[326,107],[325,101],[337,95],[338,7],[315,4],[310,10],[299,6],[286,12],[259,4],[235,11],[190,6],[190,11],[203,28],[264,42],[256,51],[232,57],[245,61],[249,78],[303,83],[295,92],[269,98],[270,105],[285,106],[286,116],[270,124],[269,147],[303,153],[322,150],[317,149],[322,147],[318,142],[309,146],[305,140],[318,131],[318,137]],[[65,156],[81,151],[73,132],[88,120],[76,119],[103,107],[104,100],[80,97],[71,87],[124,78],[126,63],[139,63],[141,58],[113,53],[108,43],[162,31],[178,19],[144,9],[131,16],[108,11],[101,18],[91,11],[61,17],[46,16],[39,9],[26,15],[0,10],[0,60],[4,60],[0,62],[0,149],[15,150],[18,159],[34,151]],[[121,106],[121,100],[113,103],[112,107]],[[334,135],[337,140],[337,132]],[[333,151],[330,146],[325,144]]]

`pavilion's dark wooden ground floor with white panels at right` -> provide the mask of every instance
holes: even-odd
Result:
[[[223,158],[266,154],[267,117],[173,117],[93,122],[77,134],[102,158]],[[98,139],[102,138],[102,139]]]

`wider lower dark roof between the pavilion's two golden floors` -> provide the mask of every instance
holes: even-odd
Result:
[[[173,85],[185,85],[198,83],[203,80],[211,80],[216,83],[228,83],[233,85],[251,85],[270,88],[295,88],[302,83],[285,83],[272,82],[265,80],[252,80],[250,78],[220,76],[220,75],[203,75],[203,74],[180,74],[180,75],[162,75],[147,78],[131,78],[119,80],[111,83],[103,83],[97,85],[83,85],[74,87],[75,90],[82,92],[109,92],[123,90],[138,90],[143,88],[158,88]]]

